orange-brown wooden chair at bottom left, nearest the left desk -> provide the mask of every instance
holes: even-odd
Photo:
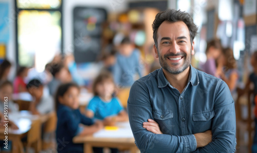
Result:
[[[26,147],[26,152],[29,152],[29,148],[34,148],[34,152],[41,151],[41,120],[33,120],[31,128],[28,131],[27,141],[23,142]]]

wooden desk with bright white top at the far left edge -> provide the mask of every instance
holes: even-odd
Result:
[[[13,153],[23,153],[23,144],[21,139],[26,135],[26,133],[31,128],[31,120],[29,119],[19,119],[13,121],[19,129],[12,130],[8,129],[8,135],[4,135],[5,129],[0,129],[0,139],[4,140],[5,136],[8,136],[8,142],[12,141],[12,152]]]

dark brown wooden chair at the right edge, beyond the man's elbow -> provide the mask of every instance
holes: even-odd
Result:
[[[251,152],[251,146],[253,141],[254,132],[254,113],[252,104],[252,93],[249,91],[244,94],[243,89],[237,88],[237,100],[235,102],[235,113],[236,113],[236,139],[237,146],[243,146],[247,144],[242,143],[241,133],[247,132],[248,134],[248,152]],[[243,109],[247,108],[247,117],[244,118]]]

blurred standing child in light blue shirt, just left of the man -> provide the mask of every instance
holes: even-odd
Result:
[[[140,51],[135,48],[129,37],[121,41],[113,74],[115,83],[122,87],[131,87],[136,79],[142,77]],[[136,77],[137,74],[139,78]]]

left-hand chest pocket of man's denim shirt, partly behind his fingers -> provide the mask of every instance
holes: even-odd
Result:
[[[173,134],[173,112],[171,110],[153,110],[153,118],[159,124],[163,134]]]

